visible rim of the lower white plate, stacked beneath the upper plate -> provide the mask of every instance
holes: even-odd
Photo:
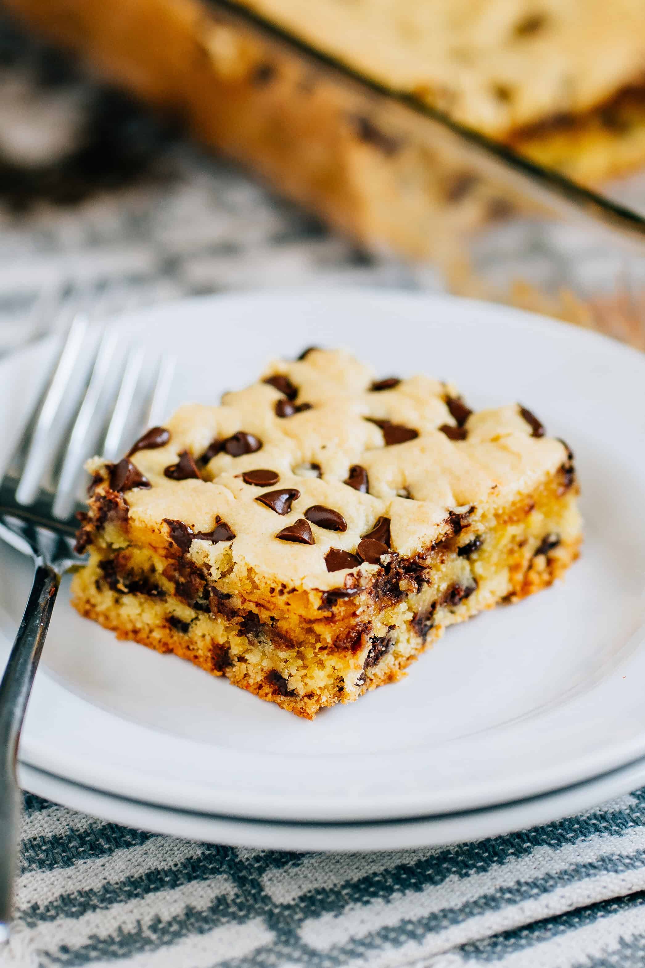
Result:
[[[481,810],[367,824],[296,824],[173,810],[102,793],[34,767],[21,766],[19,779],[22,788],[31,793],[144,831],[269,850],[383,851],[478,840],[574,816],[642,786],[645,759],[542,797]]]

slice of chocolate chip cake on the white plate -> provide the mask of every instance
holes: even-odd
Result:
[[[274,363],[89,468],[81,615],[308,718],[550,585],[581,539],[572,452],[533,413],[472,412],[341,351]]]

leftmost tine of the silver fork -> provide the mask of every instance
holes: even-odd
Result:
[[[31,504],[38,494],[44,469],[52,454],[52,435],[55,437],[56,418],[64,398],[69,393],[70,378],[81,353],[89,329],[89,319],[76,314],[68,331],[53,376],[35,412],[40,413],[33,431],[24,441],[25,460],[15,499],[20,504]],[[59,433],[62,430],[59,428]]]

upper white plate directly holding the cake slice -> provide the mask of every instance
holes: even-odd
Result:
[[[216,401],[311,343],[384,376],[455,378],[476,408],[520,400],[572,445],[587,539],[566,582],[451,629],[405,681],[312,723],[116,642],[63,588],[24,763],[173,809],[366,822],[533,797],[645,755],[645,357],[512,309],[382,290],[209,297],[121,324],[179,354],[172,406]],[[0,363],[5,426],[44,353]],[[3,650],[29,570],[2,547]]]

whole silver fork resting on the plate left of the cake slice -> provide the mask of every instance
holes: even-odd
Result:
[[[76,314],[26,433],[0,480],[0,537],[32,557],[34,580],[0,682],[0,944],[9,940],[17,867],[19,789],[16,756],[27,701],[62,575],[83,559],[73,552],[75,512],[92,453],[119,454],[126,430],[158,423],[174,361],[146,367],[144,348],[118,353],[123,330],[100,329]],[[86,373],[81,385],[73,378]],[[133,426],[132,412],[140,412]],[[71,430],[70,424],[72,423]]]

